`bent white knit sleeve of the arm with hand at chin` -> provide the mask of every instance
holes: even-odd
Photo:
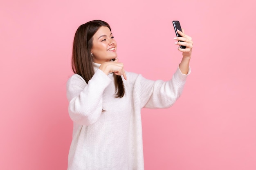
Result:
[[[97,121],[102,112],[102,94],[110,82],[111,79],[99,69],[88,84],[80,75],[72,75],[67,81],[70,118],[81,125],[90,125]]]

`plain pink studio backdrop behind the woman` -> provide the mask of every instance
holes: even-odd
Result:
[[[127,71],[168,80],[172,20],[193,38],[192,73],[172,108],[142,110],[145,170],[256,170],[254,0],[0,2],[0,169],[65,170],[65,83],[79,25],[105,20]]]

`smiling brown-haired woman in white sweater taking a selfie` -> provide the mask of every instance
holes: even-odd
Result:
[[[67,81],[68,111],[74,121],[68,170],[144,170],[141,108],[168,108],[182,93],[193,42],[176,37],[182,61],[170,81],[152,81],[124,71],[117,42],[101,20],[76,31],[74,75]],[[183,42],[179,42],[183,41]]]

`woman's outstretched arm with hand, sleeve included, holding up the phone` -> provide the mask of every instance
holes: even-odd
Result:
[[[179,68],[174,73],[173,78],[168,82],[161,80],[149,81],[139,76],[135,82],[135,92],[139,94],[138,100],[141,107],[146,108],[167,108],[172,106],[180,97],[186,77],[190,73],[189,62],[191,58],[193,42],[192,38],[183,32],[177,30],[182,37],[175,37],[175,44],[186,46],[186,49],[177,49],[182,52],[182,60]],[[183,42],[181,42],[183,41]]]

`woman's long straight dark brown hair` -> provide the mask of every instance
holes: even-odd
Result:
[[[101,26],[110,26],[107,22],[101,20],[93,20],[79,26],[76,30],[73,51],[72,51],[72,70],[74,73],[83,77],[88,84],[89,80],[94,75],[93,58],[91,56],[93,35]],[[111,29],[110,29],[111,31]],[[124,83],[122,77],[114,75],[115,79],[115,97],[124,96]]]

